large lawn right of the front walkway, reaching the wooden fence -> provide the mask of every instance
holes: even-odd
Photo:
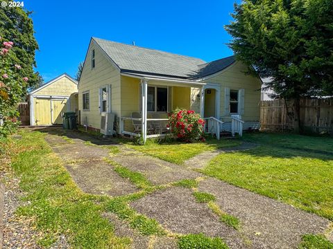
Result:
[[[298,142],[300,148],[323,148],[323,153],[317,153],[291,149],[297,137],[248,134],[246,139],[267,143],[216,156],[202,172],[333,221],[333,156],[325,154],[325,145],[330,147],[332,140],[300,136],[302,142],[307,141],[307,145]]]

